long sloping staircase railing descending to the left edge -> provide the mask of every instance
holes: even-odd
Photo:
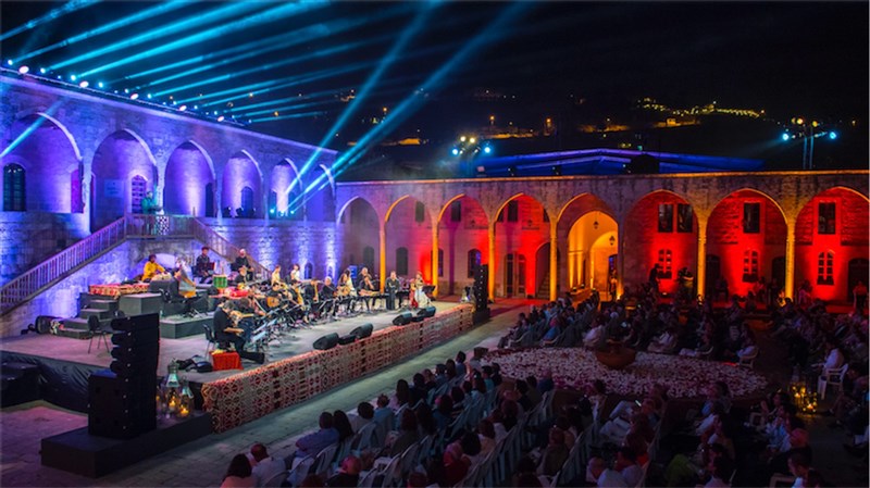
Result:
[[[127,217],[121,217],[7,283],[0,288],[0,315],[120,245],[126,237]]]

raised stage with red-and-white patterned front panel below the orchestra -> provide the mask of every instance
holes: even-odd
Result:
[[[472,327],[471,305],[448,301],[433,301],[432,305],[435,316],[403,326],[393,325],[398,311],[381,311],[293,329],[279,337],[279,342],[269,345],[265,364],[243,361],[244,370],[191,371],[185,375],[199,397],[198,405],[211,413],[213,429],[224,431],[399,362]],[[314,350],[320,337],[332,333],[345,336],[363,324],[372,324],[371,337]],[[204,356],[207,346],[204,335],[161,338],[158,375],[163,376],[175,360]],[[88,340],[37,334],[4,339],[0,356],[37,364],[42,398],[80,412],[87,411],[90,373],[112,362],[97,338],[88,353]]]

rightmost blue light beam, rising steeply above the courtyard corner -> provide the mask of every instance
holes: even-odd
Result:
[[[333,177],[337,177],[344,173],[348,167],[350,167],[350,165],[352,165],[362,157],[364,151],[381,141],[396,127],[396,125],[400,124],[413,112],[415,112],[424,103],[421,93],[434,91],[434,89],[437,88],[449,74],[469,61],[469,59],[478,50],[493,42],[498,37],[498,33],[508,32],[510,24],[526,9],[526,7],[527,3],[525,2],[519,2],[509,5],[492,24],[487,25],[483,32],[477,34],[470,42],[464,43],[459,52],[457,52],[452,58],[450,58],[450,60],[448,60],[435,73],[433,73],[420,89],[415,90],[409,98],[405,99],[398,107],[396,107],[382,124],[377,125],[373,130],[363,136],[356,146],[353,146],[349,151],[343,153],[335,161],[335,163],[333,163]],[[299,209],[302,204],[304,204],[304,202],[311,199],[316,191],[325,186],[325,175],[320,175],[318,178],[311,182],[311,184],[309,184],[301,195],[296,197],[294,201],[289,202],[287,208],[293,209],[293,211]]]

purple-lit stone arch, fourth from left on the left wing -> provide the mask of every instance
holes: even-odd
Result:
[[[224,166],[221,189],[221,207],[225,216],[243,218],[263,217],[262,174],[251,155],[241,150],[233,154]],[[250,192],[252,209],[243,207],[243,198]]]

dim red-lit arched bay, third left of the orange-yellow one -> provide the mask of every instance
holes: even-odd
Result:
[[[385,215],[386,273],[413,279],[417,272],[427,284],[432,276],[432,218],[426,205],[411,196],[393,202]]]

